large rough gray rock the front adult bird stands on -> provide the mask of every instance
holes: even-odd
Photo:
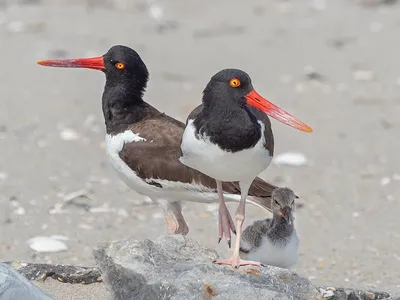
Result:
[[[94,257],[113,300],[323,299],[289,270],[214,265],[214,250],[182,236],[111,242]]]

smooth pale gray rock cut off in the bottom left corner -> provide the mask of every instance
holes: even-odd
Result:
[[[10,266],[0,263],[0,300],[51,300]]]

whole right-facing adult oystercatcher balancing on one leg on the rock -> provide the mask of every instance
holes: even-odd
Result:
[[[237,239],[230,259],[218,264],[259,265],[241,260],[240,237],[247,191],[270,164],[274,138],[267,114],[289,126],[312,132],[311,127],[261,97],[250,76],[242,70],[224,69],[215,74],[203,92],[202,105],[186,121],[180,161],[216,180],[219,195],[220,236],[235,230],[221,191],[223,182],[238,181],[241,199],[236,211]]]

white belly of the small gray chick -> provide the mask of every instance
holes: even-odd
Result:
[[[290,268],[297,263],[298,249],[299,238],[296,233],[291,236],[286,245],[273,245],[267,237],[264,237],[261,246],[247,254],[246,259],[259,261],[265,265]]]

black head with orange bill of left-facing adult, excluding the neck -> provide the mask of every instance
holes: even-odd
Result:
[[[91,58],[56,59],[39,61],[50,67],[88,68],[106,74],[106,86],[126,85],[135,94],[142,96],[149,78],[149,72],[139,54],[126,46],[113,46],[106,54]]]

